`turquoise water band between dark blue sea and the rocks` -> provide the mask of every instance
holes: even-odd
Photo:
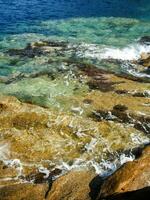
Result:
[[[26,32],[28,30],[28,32]],[[123,47],[150,34],[149,21],[132,18],[91,17],[20,24],[18,34],[1,36],[1,48],[22,47],[39,39],[58,39]],[[22,32],[22,33],[19,33]]]

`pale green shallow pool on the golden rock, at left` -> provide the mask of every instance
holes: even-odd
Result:
[[[47,77],[39,77],[0,85],[0,91],[3,94],[16,96],[24,102],[59,109],[65,108],[65,104],[68,106],[67,97],[83,95],[87,90],[88,87],[80,84],[78,80],[68,81],[65,78],[52,81]]]

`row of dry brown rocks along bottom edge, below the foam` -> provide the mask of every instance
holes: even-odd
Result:
[[[49,178],[43,181],[43,177],[36,183],[12,182],[0,187],[0,199],[148,199],[150,195],[149,159],[150,147],[148,146],[138,159],[127,162],[105,179],[100,174],[96,176],[92,171],[72,170],[53,182]],[[3,171],[5,171],[4,168]]]

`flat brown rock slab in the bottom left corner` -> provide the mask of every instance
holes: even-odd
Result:
[[[44,200],[48,184],[16,184],[0,187],[0,200]]]

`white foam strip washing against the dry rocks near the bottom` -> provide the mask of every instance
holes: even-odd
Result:
[[[80,129],[80,131],[83,131]],[[82,137],[82,136],[81,136]],[[145,135],[143,136],[142,134],[137,134],[137,133],[132,133],[131,134],[131,143],[136,145],[136,146],[140,146],[142,144],[148,144],[150,142],[150,139]],[[21,177],[24,177],[24,167],[36,167],[38,169],[38,171],[40,173],[44,174],[44,178],[48,178],[50,175],[50,172],[53,171],[54,169],[61,169],[62,172],[59,175],[56,175],[53,177],[53,179],[58,178],[59,176],[67,173],[68,171],[71,170],[81,170],[81,169],[91,169],[94,170],[97,174],[99,174],[100,176],[108,176],[110,174],[112,174],[114,171],[116,171],[121,165],[123,165],[124,163],[128,162],[128,161],[133,161],[135,159],[135,156],[132,154],[132,150],[129,151],[128,153],[118,153],[118,152],[112,152],[111,151],[111,144],[110,146],[107,144],[107,141],[102,140],[103,138],[101,138],[101,142],[104,142],[106,147],[103,148],[103,152],[101,152],[101,154],[103,154],[104,152],[109,152],[110,156],[105,159],[103,156],[101,159],[95,159],[95,157],[93,156],[92,159],[87,159],[86,156],[84,157],[84,154],[81,155],[79,158],[75,158],[72,160],[71,163],[66,162],[65,160],[63,160],[63,158],[61,160],[57,160],[55,161],[51,161],[51,160],[41,160],[41,162],[39,163],[24,163],[22,162],[20,159],[12,159],[9,160],[6,156],[3,156],[0,158],[0,160],[3,160],[4,164],[8,167],[12,167],[16,169],[17,172],[17,176],[13,177],[7,180],[20,180]],[[95,152],[95,148],[96,148],[96,144],[98,143],[98,138],[92,138],[91,141],[85,145],[86,149],[87,149],[87,154],[91,154],[93,152]],[[6,146],[2,146],[1,149],[5,149]],[[94,153],[95,154],[95,153]],[[47,166],[49,165],[49,167],[44,167],[43,164],[47,163]],[[3,181],[7,181],[6,179],[4,179]],[[21,180],[21,181],[26,181],[26,180]],[[34,180],[31,180],[31,182],[33,182]]]

